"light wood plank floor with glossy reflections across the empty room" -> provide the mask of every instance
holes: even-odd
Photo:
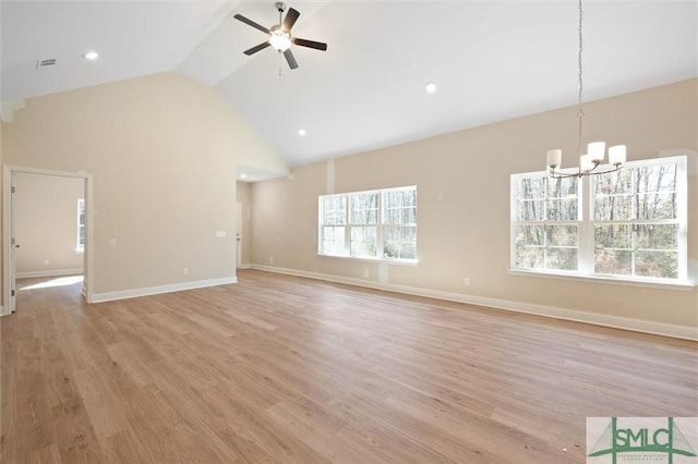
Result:
[[[698,415],[697,343],[238,277],[96,305],[20,291],[2,462],[583,463],[587,416]]]

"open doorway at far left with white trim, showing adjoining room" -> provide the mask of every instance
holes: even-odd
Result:
[[[16,279],[26,277],[82,274],[91,303],[92,176],[4,167],[2,190],[2,314],[16,309]]]

